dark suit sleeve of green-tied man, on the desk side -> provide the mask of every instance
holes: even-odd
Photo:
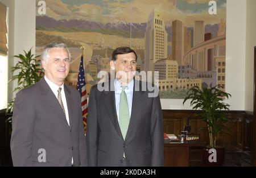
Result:
[[[151,113],[151,166],[164,165],[163,116],[159,95],[153,98]]]

